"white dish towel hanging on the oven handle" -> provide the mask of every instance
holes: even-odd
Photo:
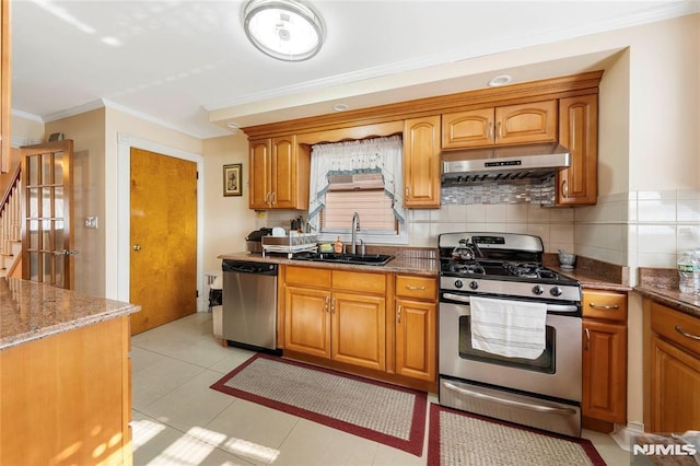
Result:
[[[474,349],[524,359],[545,350],[547,304],[471,296],[469,307]]]

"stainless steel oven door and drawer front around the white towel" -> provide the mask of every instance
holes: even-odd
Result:
[[[580,436],[580,303],[548,304],[546,349],[529,360],[474,349],[468,301],[465,294],[441,293],[440,404]]]

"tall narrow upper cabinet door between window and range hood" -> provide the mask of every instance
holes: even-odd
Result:
[[[440,207],[440,115],[404,123],[404,206]]]

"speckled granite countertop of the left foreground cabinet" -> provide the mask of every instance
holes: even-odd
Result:
[[[0,350],[140,310],[44,283],[0,278]]]

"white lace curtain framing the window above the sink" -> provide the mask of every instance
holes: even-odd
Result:
[[[329,175],[381,173],[394,215],[404,223],[402,143],[399,136],[312,145],[308,223],[318,231]]]

